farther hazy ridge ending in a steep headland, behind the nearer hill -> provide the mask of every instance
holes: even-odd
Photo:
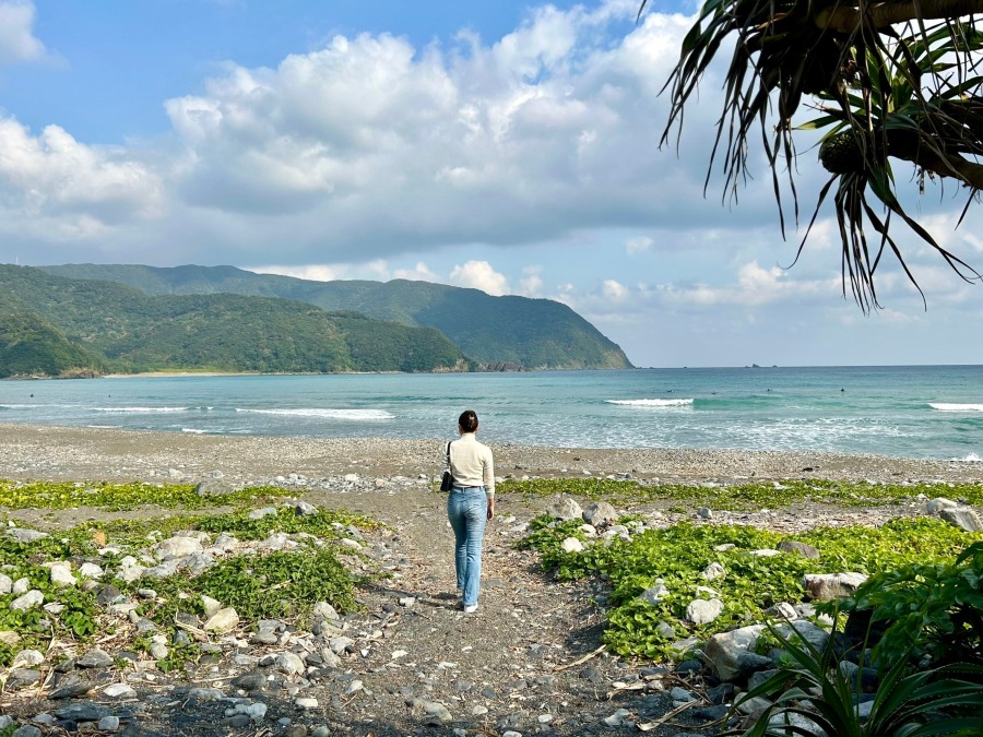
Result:
[[[277,297],[329,312],[354,311],[372,320],[434,329],[485,368],[632,368],[617,344],[566,305],[549,299],[493,297],[477,289],[406,280],[312,282],[235,266],[64,264],[42,269],[73,280],[117,282],[154,296]]]

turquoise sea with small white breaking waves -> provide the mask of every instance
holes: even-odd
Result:
[[[983,366],[0,381],[0,423],[983,460]]]

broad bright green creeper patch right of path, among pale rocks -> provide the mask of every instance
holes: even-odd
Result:
[[[951,561],[983,535],[966,533],[934,519],[893,520],[881,527],[819,527],[801,535],[780,535],[747,525],[696,525],[683,522],[646,530],[630,542],[619,537],[595,542],[582,552],[566,552],[562,540],[587,540],[577,521],[557,523],[547,515],[534,519],[522,545],[540,552],[543,567],[557,578],[599,578],[606,582],[607,629],[604,641],[623,655],[653,659],[673,657],[675,639],[710,635],[763,619],[765,609],[780,602],[801,602],[806,573],[856,571],[873,574],[914,560]],[[782,539],[816,547],[813,560],[793,554],[763,557]],[[733,545],[732,549],[715,550]],[[702,572],[720,563],[726,576],[707,581]],[[667,593],[654,604],[639,595],[662,580]],[[724,609],[704,626],[684,622],[686,606],[708,598],[704,587],[720,593]],[[670,625],[670,633],[661,623]]]

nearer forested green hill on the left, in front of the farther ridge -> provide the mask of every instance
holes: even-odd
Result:
[[[431,329],[234,294],[149,296],[109,281],[0,265],[0,378],[109,371],[451,371]]]

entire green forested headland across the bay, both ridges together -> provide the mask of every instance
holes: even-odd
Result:
[[[0,264],[0,378],[632,368],[566,305],[234,266]]]

